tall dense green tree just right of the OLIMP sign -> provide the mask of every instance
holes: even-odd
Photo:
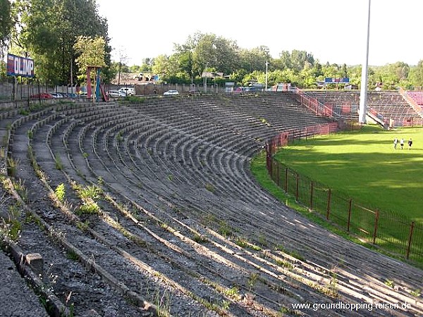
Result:
[[[101,36],[109,41],[106,20],[99,17],[95,0],[16,0],[16,7],[20,19],[16,43],[34,58],[41,80],[62,85],[70,82],[78,36]],[[109,45],[105,51],[104,59],[110,65]],[[107,70],[104,73],[107,75]]]

